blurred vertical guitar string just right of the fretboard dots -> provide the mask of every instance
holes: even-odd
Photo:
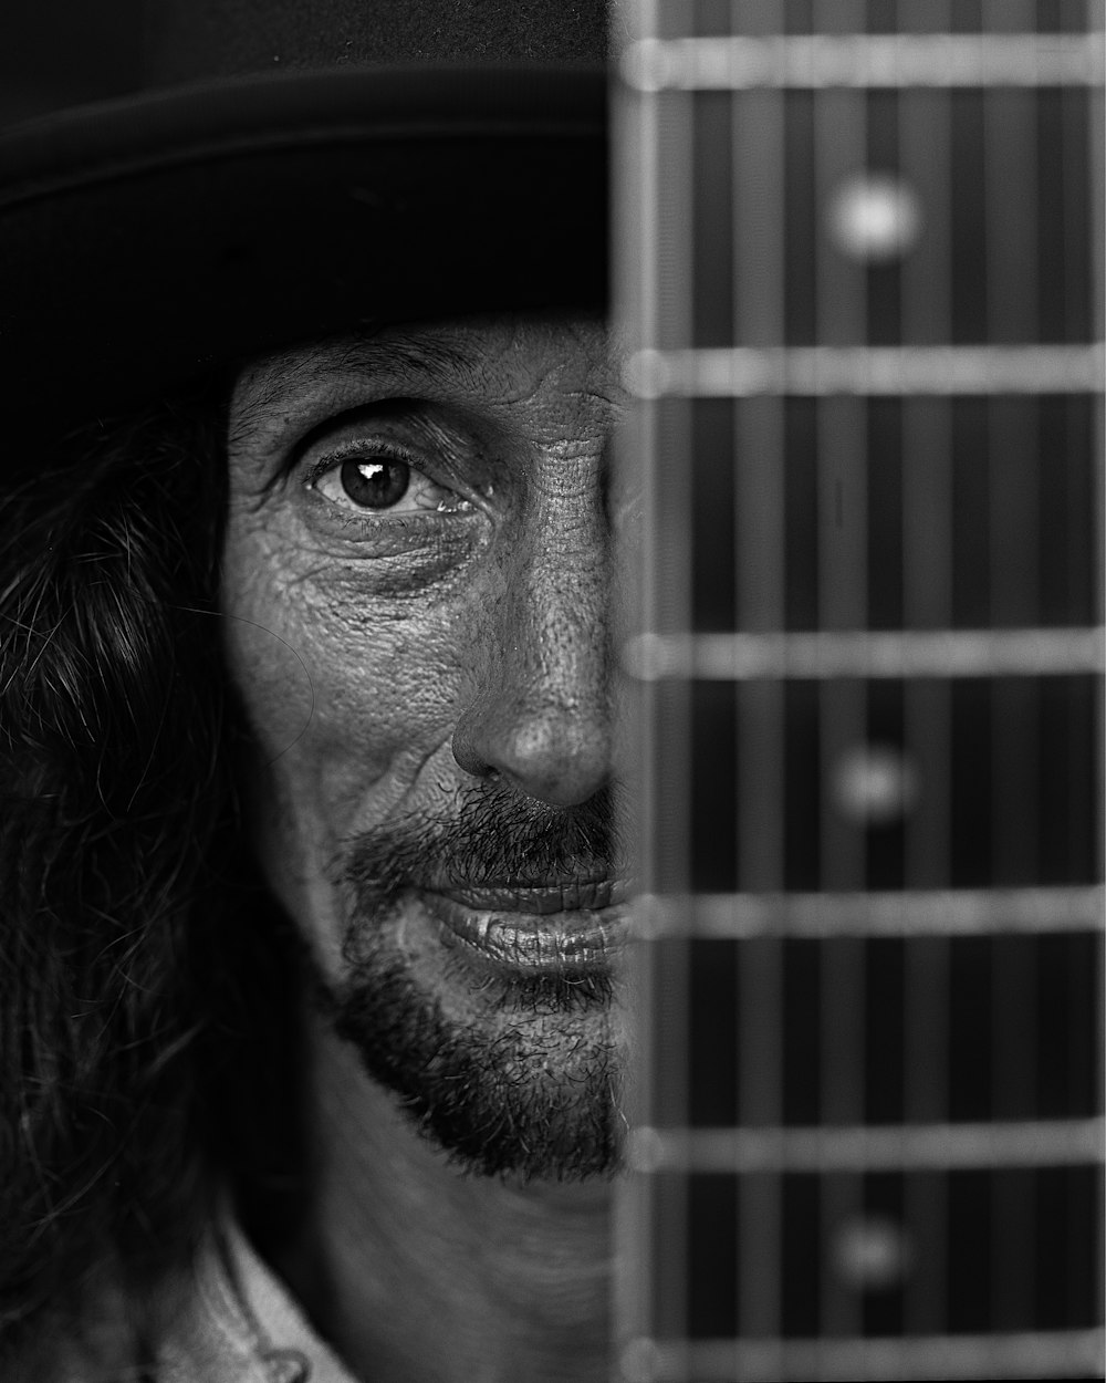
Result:
[[[947,32],[951,0],[900,0],[900,28]],[[899,98],[899,159],[925,216],[925,235],[903,263],[903,340],[951,340],[951,97],[904,91]],[[903,400],[903,622],[947,629],[953,614],[953,408],[941,398]],[[950,882],[951,689],[946,680],[906,682],[903,747],[924,784],[904,820],[903,885]],[[950,942],[914,938],[903,945],[903,1119],[907,1126],[948,1117]],[[903,1329],[947,1330],[947,1178],[906,1177]]]

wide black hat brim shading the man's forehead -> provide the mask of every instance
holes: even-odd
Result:
[[[365,321],[601,308],[601,69],[348,69],[0,140],[0,371],[54,425]]]

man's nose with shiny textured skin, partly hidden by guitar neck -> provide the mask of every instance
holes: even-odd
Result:
[[[610,552],[600,516],[560,550],[547,531],[505,574],[481,650],[480,689],[453,730],[453,758],[554,806],[608,780]]]

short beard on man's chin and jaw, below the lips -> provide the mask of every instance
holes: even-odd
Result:
[[[346,957],[348,978],[326,996],[335,1030],[459,1167],[553,1181],[617,1170],[622,1061],[606,971],[491,981],[492,1026],[445,1012],[379,916],[351,925]]]

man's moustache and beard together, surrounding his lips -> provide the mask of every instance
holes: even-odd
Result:
[[[412,964],[398,922],[419,888],[610,877],[621,857],[614,820],[610,790],[560,809],[484,784],[448,816],[406,813],[344,852],[347,969],[326,997],[332,1022],[418,1130],[469,1171],[578,1181],[615,1170],[614,979],[590,965],[474,981],[463,943],[447,938],[445,992],[476,993],[458,1012]]]

